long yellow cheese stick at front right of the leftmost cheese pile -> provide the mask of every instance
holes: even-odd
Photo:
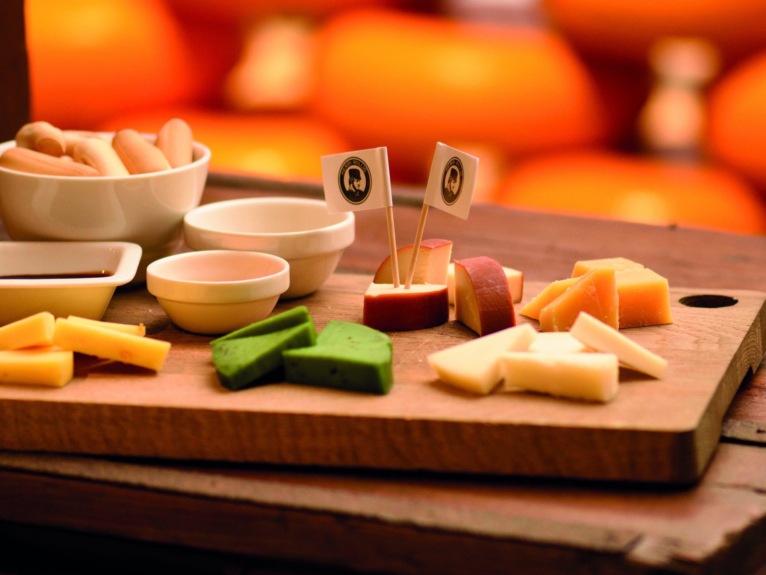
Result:
[[[162,368],[170,350],[170,343],[167,341],[123,334],[103,327],[65,320],[62,317],[56,320],[54,343],[66,350],[155,371]]]

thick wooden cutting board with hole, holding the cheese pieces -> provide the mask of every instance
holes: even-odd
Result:
[[[334,275],[306,304],[321,329],[361,321],[366,275]],[[525,285],[524,302],[545,284]],[[671,290],[675,323],[624,333],[669,360],[653,380],[624,370],[607,405],[531,393],[471,396],[440,383],[426,356],[474,337],[450,320],[391,334],[387,396],[280,383],[231,392],[218,383],[210,337],[173,326],[145,290],[118,292],[105,320],[147,325],[173,347],[162,373],[78,357],[63,389],[0,386],[0,449],[457,471],[628,481],[693,481],[718,445],[722,416],[764,356],[766,294],[686,307],[709,291]],[[517,310],[520,306],[517,306]],[[519,316],[519,321],[531,321]],[[535,325],[537,322],[532,321]]]

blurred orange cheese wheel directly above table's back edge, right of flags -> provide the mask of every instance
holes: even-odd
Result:
[[[509,172],[498,202],[522,209],[727,232],[766,232],[756,192],[724,169],[611,152],[532,159]]]

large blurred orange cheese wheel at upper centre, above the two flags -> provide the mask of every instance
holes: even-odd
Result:
[[[545,31],[355,11],[317,44],[316,110],[354,146],[388,146],[392,169],[430,165],[437,140],[524,153],[607,133],[591,74]]]

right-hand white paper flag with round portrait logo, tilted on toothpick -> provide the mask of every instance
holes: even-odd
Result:
[[[424,203],[467,219],[478,167],[479,158],[437,143]]]

